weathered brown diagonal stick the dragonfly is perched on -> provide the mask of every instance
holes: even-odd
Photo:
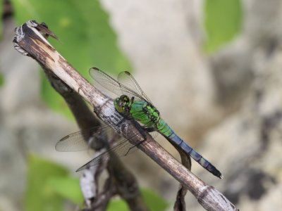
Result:
[[[45,39],[45,37],[55,37],[44,24],[37,24],[35,21],[27,21],[16,28],[16,35],[13,39],[15,48],[25,56],[30,56],[37,60],[48,70],[54,72],[63,82],[68,84],[80,96],[91,103],[94,110],[99,110],[99,117],[111,127],[118,131],[118,122],[123,117],[115,110],[111,98],[102,94],[98,89],[92,86],[84,79]],[[130,121],[125,123],[128,127],[125,137],[130,138],[132,144],[140,143],[142,136],[133,136],[139,134],[135,124]],[[128,134],[128,131],[130,134]],[[132,133],[132,134],[131,134]],[[213,186],[209,186],[204,181],[198,179],[187,168],[178,162],[172,155],[162,148],[152,136],[146,134],[147,139],[138,148],[146,153],[152,160],[157,162],[166,172],[177,179],[185,188],[197,198],[198,202],[206,210],[236,210],[235,206],[222,193]]]

